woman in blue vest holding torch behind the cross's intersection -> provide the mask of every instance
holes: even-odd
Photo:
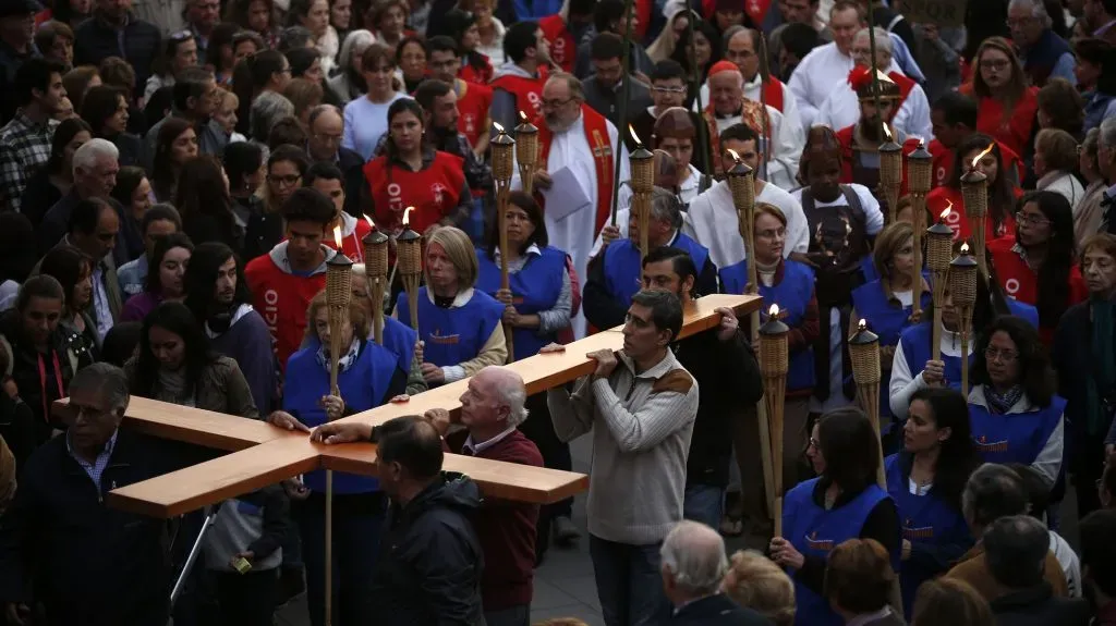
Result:
[[[349,305],[349,323],[341,330],[341,353],[337,387],[329,389],[330,331],[326,292],[310,301],[305,348],[287,361],[282,411],[268,422],[287,430],[309,432],[311,428],[343,415],[379,407],[406,388],[406,374],[398,358],[368,341],[368,315],[357,302]],[[305,477],[305,487],[291,489],[292,513],[302,539],[307,571],[307,601],[310,623],[321,626],[325,610],[325,512],[326,472]],[[385,498],[375,478],[337,472],[334,475],[334,607],[340,624],[371,624],[375,607],[366,606],[365,589],[372,581],[379,531],[384,522]]]

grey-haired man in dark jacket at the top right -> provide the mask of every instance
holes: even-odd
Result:
[[[1069,43],[1050,28],[1050,14],[1042,0],[1011,0],[1008,4],[1008,28],[1019,49],[1023,72],[1038,88],[1051,78],[1065,78],[1077,85],[1076,63]]]

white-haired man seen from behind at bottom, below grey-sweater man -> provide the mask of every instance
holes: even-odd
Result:
[[[704,524],[685,520],[671,530],[660,549],[663,589],[674,606],[668,624],[761,626],[766,617],[721,593],[729,570],[724,539]]]

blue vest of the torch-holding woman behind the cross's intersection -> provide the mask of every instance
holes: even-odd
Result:
[[[283,410],[310,428],[326,422],[326,412],[318,405],[318,401],[329,393],[329,370],[318,363],[319,345],[314,342],[290,355],[287,361],[287,381],[298,383],[283,387]],[[356,362],[337,374],[337,388],[345,399],[346,411],[367,411],[386,402],[396,362],[391,350],[376,345],[374,341],[365,341]],[[311,490],[325,492],[325,470],[307,473],[305,482]],[[379,482],[375,478],[334,472],[334,491],[338,493],[365,493],[378,488]]]

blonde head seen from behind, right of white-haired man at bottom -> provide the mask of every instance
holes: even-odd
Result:
[[[795,584],[781,567],[756,550],[732,555],[721,590],[776,626],[795,624]]]

